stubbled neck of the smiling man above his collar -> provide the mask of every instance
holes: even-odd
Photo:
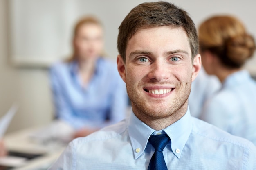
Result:
[[[186,114],[187,109],[188,104],[186,101],[186,103],[174,113],[171,113],[168,116],[162,118],[156,118],[155,116],[148,116],[148,114],[143,113],[143,111],[139,110],[135,105],[132,104],[132,111],[135,116],[137,116],[139,120],[147,124],[152,129],[155,129],[156,131],[165,129],[166,127],[180,120],[180,118]]]

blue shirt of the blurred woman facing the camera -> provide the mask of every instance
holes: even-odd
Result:
[[[87,87],[78,74],[78,63],[52,66],[50,80],[56,116],[75,129],[102,128],[126,117],[128,95],[114,62],[99,58]],[[106,122],[106,119],[108,121]]]

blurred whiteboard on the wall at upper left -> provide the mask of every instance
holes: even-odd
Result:
[[[9,0],[11,61],[47,66],[70,53],[72,0]]]

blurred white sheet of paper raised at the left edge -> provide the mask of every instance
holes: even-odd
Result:
[[[13,116],[15,115],[18,106],[13,104],[9,111],[0,119],[0,138],[4,135],[7,130]]]

